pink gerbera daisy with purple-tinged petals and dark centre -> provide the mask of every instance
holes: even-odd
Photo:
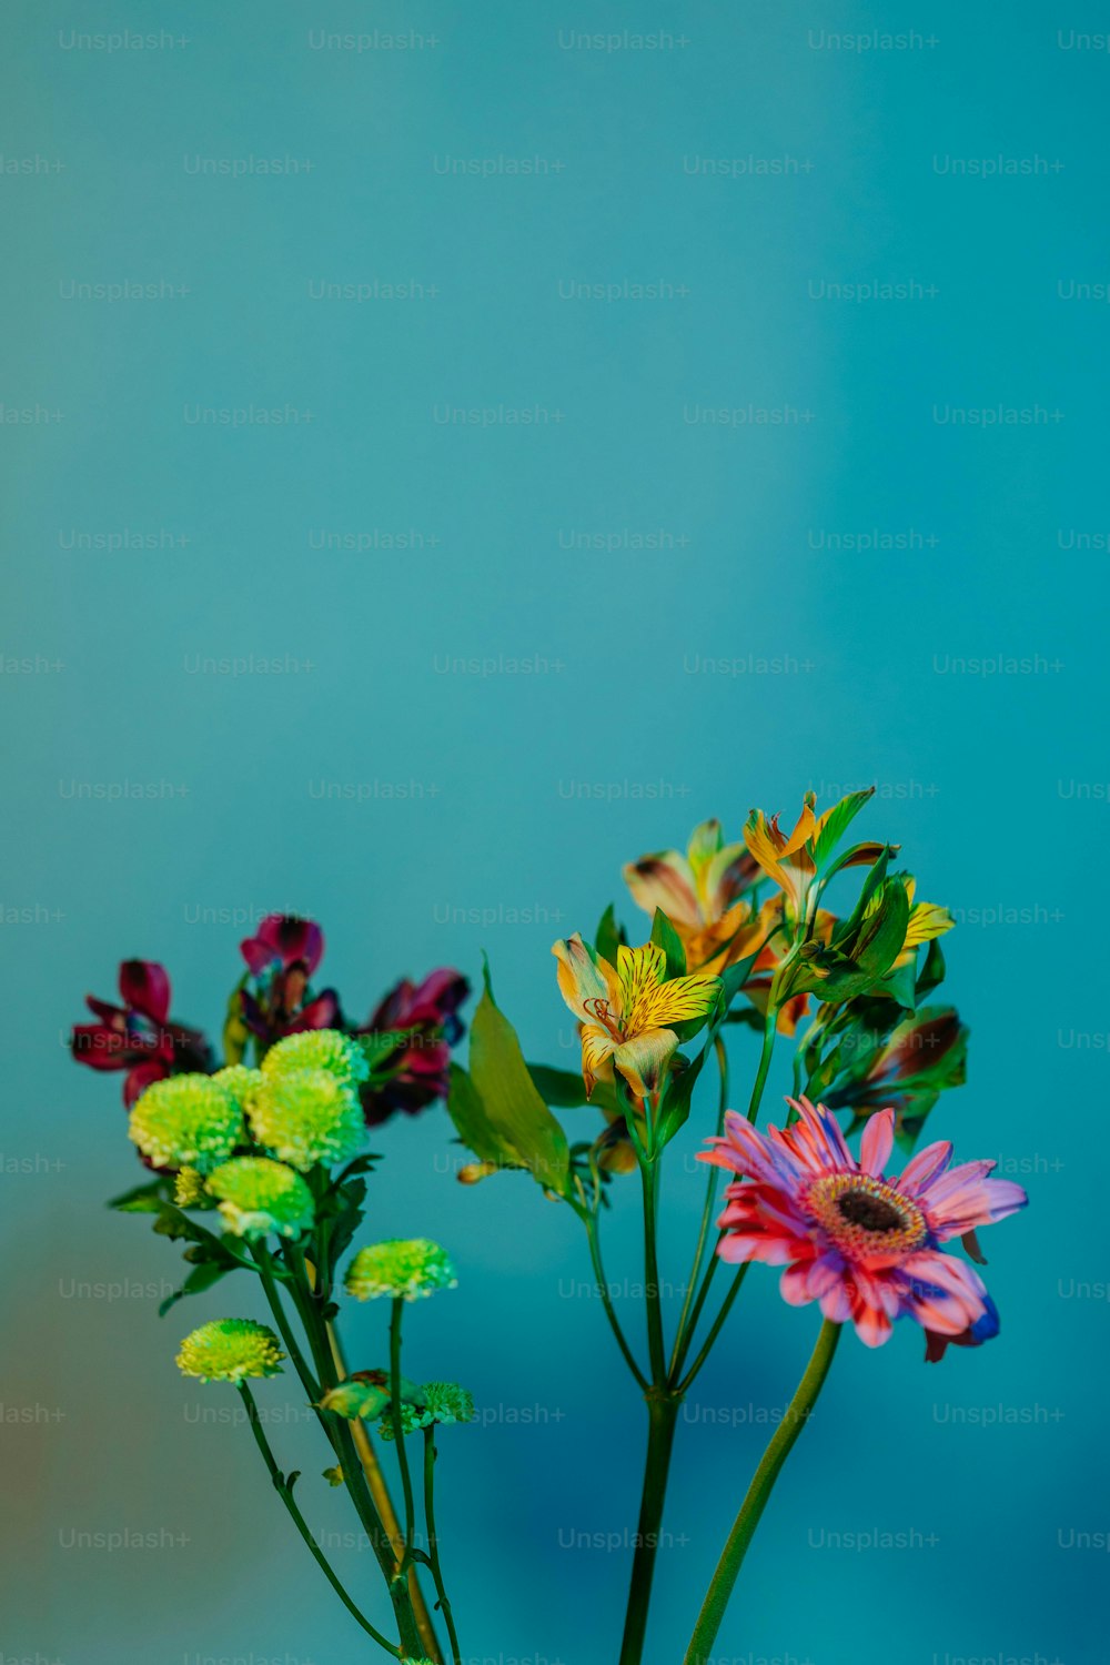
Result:
[[[930,1335],[957,1337],[992,1312],[979,1274],[940,1245],[965,1237],[982,1259],[975,1227],[1022,1209],[1022,1187],[989,1179],[994,1162],[950,1167],[947,1141],[887,1179],[894,1111],[869,1117],[857,1162],[824,1104],[787,1104],[799,1121],[767,1134],[729,1111],[724,1137],[701,1154],[744,1180],[726,1192],[721,1259],[785,1267],[780,1289],[790,1305],[815,1300],[827,1319],[850,1319],[869,1347],[880,1347],[892,1320],[907,1314]]]

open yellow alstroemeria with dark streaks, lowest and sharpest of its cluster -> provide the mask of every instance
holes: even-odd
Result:
[[[659,1086],[679,1037],[669,1024],[706,1017],[717,1001],[717,977],[671,977],[667,956],[654,942],[617,949],[617,964],[594,956],[577,931],[556,942],[559,991],[581,1019],[586,1092],[621,1071],[632,1092],[646,1099]]]

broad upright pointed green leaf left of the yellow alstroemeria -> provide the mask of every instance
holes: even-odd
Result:
[[[474,1091],[498,1139],[518,1152],[541,1185],[562,1194],[571,1166],[566,1134],[536,1091],[516,1029],[494,1002],[489,966],[483,976],[486,987],[471,1024]]]

